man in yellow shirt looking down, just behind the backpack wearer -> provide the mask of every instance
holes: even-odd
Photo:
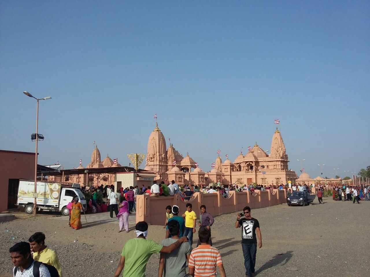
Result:
[[[28,239],[31,250],[33,252],[33,259],[44,264],[50,264],[58,270],[59,277],[62,277],[62,269],[58,260],[57,252],[51,250],[45,245],[45,235],[41,232],[36,232]]]

